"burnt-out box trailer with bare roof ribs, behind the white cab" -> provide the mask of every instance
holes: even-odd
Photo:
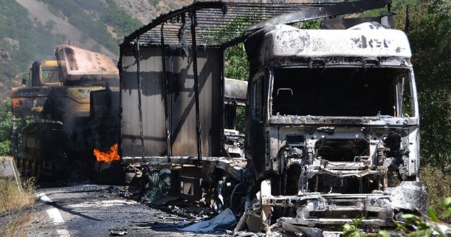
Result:
[[[233,104],[245,102],[233,93],[227,98],[224,91],[224,51],[249,35],[244,33],[249,24],[319,5],[329,4],[197,1],[125,37],[119,150],[128,172],[142,177],[171,168],[173,192],[191,200],[199,200],[203,190],[223,190],[215,196],[226,196],[244,182],[242,151],[230,154],[227,147],[233,136],[240,147],[242,136],[226,129],[234,127]],[[235,84],[243,94],[242,85]],[[225,187],[215,188],[218,183]],[[218,210],[231,205],[219,200]]]

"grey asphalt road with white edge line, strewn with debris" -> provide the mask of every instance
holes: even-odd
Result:
[[[33,208],[28,236],[223,236],[226,233],[180,232],[180,225],[193,221],[173,214],[171,207],[154,209],[128,200],[122,187],[79,184],[39,188],[39,203]],[[178,208],[178,207],[172,207]],[[163,211],[164,210],[164,211]]]

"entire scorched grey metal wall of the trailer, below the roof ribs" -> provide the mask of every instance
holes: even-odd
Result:
[[[194,111],[194,76],[192,58],[182,50],[168,50],[168,116],[172,155],[197,157],[196,118]],[[144,156],[159,157],[167,152],[161,49],[140,47],[142,130]],[[202,155],[221,154],[221,95],[223,52],[198,49],[199,106],[202,124]],[[141,157],[138,114],[137,60],[132,47],[123,49],[121,57],[121,137],[122,156]]]

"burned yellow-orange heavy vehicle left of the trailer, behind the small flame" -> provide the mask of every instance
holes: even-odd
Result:
[[[25,176],[83,179],[94,174],[94,150],[118,142],[118,69],[78,47],[61,45],[55,54],[33,63],[25,86],[12,89],[14,158]]]

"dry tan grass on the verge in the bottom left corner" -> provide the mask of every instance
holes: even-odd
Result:
[[[30,210],[25,207],[35,200],[35,186],[26,181],[25,187],[18,188],[16,181],[0,179],[0,236],[27,236],[24,227],[30,222]]]

